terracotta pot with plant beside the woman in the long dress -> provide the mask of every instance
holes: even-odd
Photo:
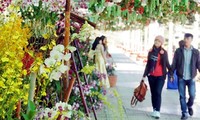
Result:
[[[114,63],[108,64],[106,67],[110,87],[115,87],[117,83],[117,75],[115,74],[115,65]]]

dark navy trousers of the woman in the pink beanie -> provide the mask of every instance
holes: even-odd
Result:
[[[151,90],[151,102],[153,109],[160,111],[161,101],[162,101],[162,89],[165,84],[164,76],[148,76],[149,86]]]

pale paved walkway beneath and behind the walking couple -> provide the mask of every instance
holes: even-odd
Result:
[[[130,106],[130,100],[133,94],[133,88],[139,85],[142,78],[144,65],[132,61],[125,53],[117,48],[111,48],[110,52],[117,64],[117,89],[122,100],[123,108],[118,107],[118,100],[112,95],[108,95],[108,101],[115,106],[115,113],[112,110],[104,107],[103,110],[97,111],[98,120],[154,120],[150,116],[152,112],[150,90],[144,102],[138,103],[136,107]],[[167,81],[166,81],[167,82]],[[148,82],[146,81],[148,84]],[[149,86],[148,86],[149,88]],[[194,116],[189,120],[200,120],[200,83],[197,83],[197,97],[194,104]],[[162,107],[160,120],[180,120],[180,105],[179,95],[177,90],[166,89],[166,83],[162,93]],[[120,109],[120,110],[119,110]],[[123,112],[123,117],[120,113]]]

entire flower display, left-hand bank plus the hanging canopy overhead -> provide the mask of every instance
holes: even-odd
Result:
[[[199,8],[193,0],[0,0],[0,119],[97,119],[112,105],[88,59],[94,28],[191,22]]]

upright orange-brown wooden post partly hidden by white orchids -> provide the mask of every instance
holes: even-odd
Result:
[[[66,5],[65,5],[65,37],[64,37],[64,46],[67,47],[69,45],[69,39],[70,39],[70,0],[66,0]],[[66,51],[66,53],[69,51]],[[69,62],[65,63],[69,66]],[[66,102],[67,96],[68,96],[68,84],[69,84],[69,79],[68,79],[68,71],[63,78],[63,101]]]

